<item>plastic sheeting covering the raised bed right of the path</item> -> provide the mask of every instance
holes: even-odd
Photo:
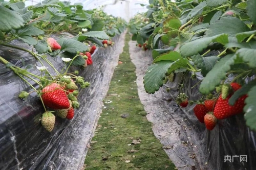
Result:
[[[136,65],[139,97],[148,113],[147,119],[153,123],[154,134],[176,167],[182,170],[255,169],[256,133],[246,127],[243,114],[219,120],[214,130],[208,131],[194,114],[195,104],[180,108],[175,103],[179,93],[176,87],[182,73],[176,74],[173,83],[168,82],[156,93],[147,94],[143,87],[143,76],[152,63],[152,56],[151,52],[142,52],[135,44],[135,41],[130,42],[130,54]],[[198,91],[199,85],[196,85],[199,79],[191,79],[189,75],[184,78],[182,92],[190,100],[202,97]],[[166,92],[166,88],[171,89]]]

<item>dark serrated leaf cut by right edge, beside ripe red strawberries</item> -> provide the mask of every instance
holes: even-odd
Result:
[[[256,131],[256,86],[252,87],[245,99],[244,118],[246,125],[253,131]]]

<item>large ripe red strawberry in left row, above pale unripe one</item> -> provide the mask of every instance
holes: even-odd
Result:
[[[52,109],[68,109],[70,106],[68,96],[63,87],[57,83],[52,83],[41,90],[42,101],[45,106]]]

